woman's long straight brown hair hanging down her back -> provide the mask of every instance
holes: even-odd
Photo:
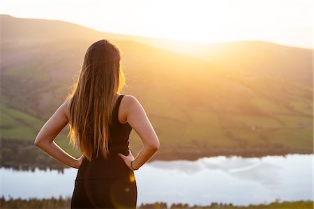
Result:
[[[80,146],[89,161],[99,151],[110,155],[109,127],[117,95],[125,85],[121,50],[112,41],[94,42],[84,56],[77,82],[68,94],[70,144]]]

